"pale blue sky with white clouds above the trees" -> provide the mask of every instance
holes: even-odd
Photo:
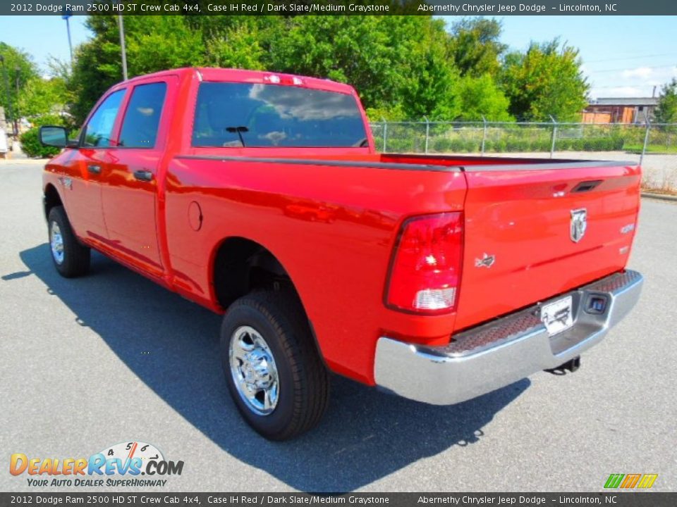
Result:
[[[443,16],[453,23],[455,16]],[[511,49],[560,37],[580,49],[593,99],[651,96],[677,77],[677,16],[504,16],[501,40]],[[90,36],[84,16],[71,18],[73,46]],[[0,41],[18,46],[46,71],[49,56],[68,61],[61,16],[0,16]]]

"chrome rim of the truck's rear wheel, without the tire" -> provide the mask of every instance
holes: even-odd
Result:
[[[245,405],[258,415],[269,415],[279,399],[279,379],[273,353],[253,327],[240,326],[228,347],[233,382]]]

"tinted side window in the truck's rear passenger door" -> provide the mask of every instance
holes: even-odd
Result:
[[[155,146],[162,104],[167,91],[164,82],[139,84],[122,121],[119,144],[126,148],[152,148]]]

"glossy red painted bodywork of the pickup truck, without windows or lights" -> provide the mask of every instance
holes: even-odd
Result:
[[[637,166],[541,168],[535,164],[544,161],[533,159],[377,154],[368,126],[362,148],[190,146],[201,81],[262,83],[270,75],[179,69],[118,84],[111,91],[126,89],[126,98],[114,139],[133,87],[168,83],[156,146],[66,149],[47,164],[44,187],[59,192],[83,242],[213,311],[224,311],[213,280],[219,246],[232,237],[261,244],[290,275],[329,367],[367,384],[374,383],[380,336],[444,344],[458,329],[626,265],[634,233],[620,230],[637,219]],[[292,79],[278,76],[282,84]],[[357,97],[346,84],[301,79],[304,87]],[[104,165],[98,177],[87,173],[90,160]],[[152,181],[135,180],[139,168],[150,170]],[[589,180],[602,183],[571,193]],[[575,208],[587,208],[589,217],[578,243],[568,233]],[[449,211],[465,220],[458,310],[386,308],[401,224]],[[496,256],[492,268],[475,267],[484,253]]]

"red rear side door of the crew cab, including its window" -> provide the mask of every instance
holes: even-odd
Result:
[[[176,78],[142,81],[123,105],[117,146],[102,190],[110,246],[125,261],[162,275],[157,237],[157,170],[164,153],[166,97]],[[164,126],[163,126],[164,125]]]

